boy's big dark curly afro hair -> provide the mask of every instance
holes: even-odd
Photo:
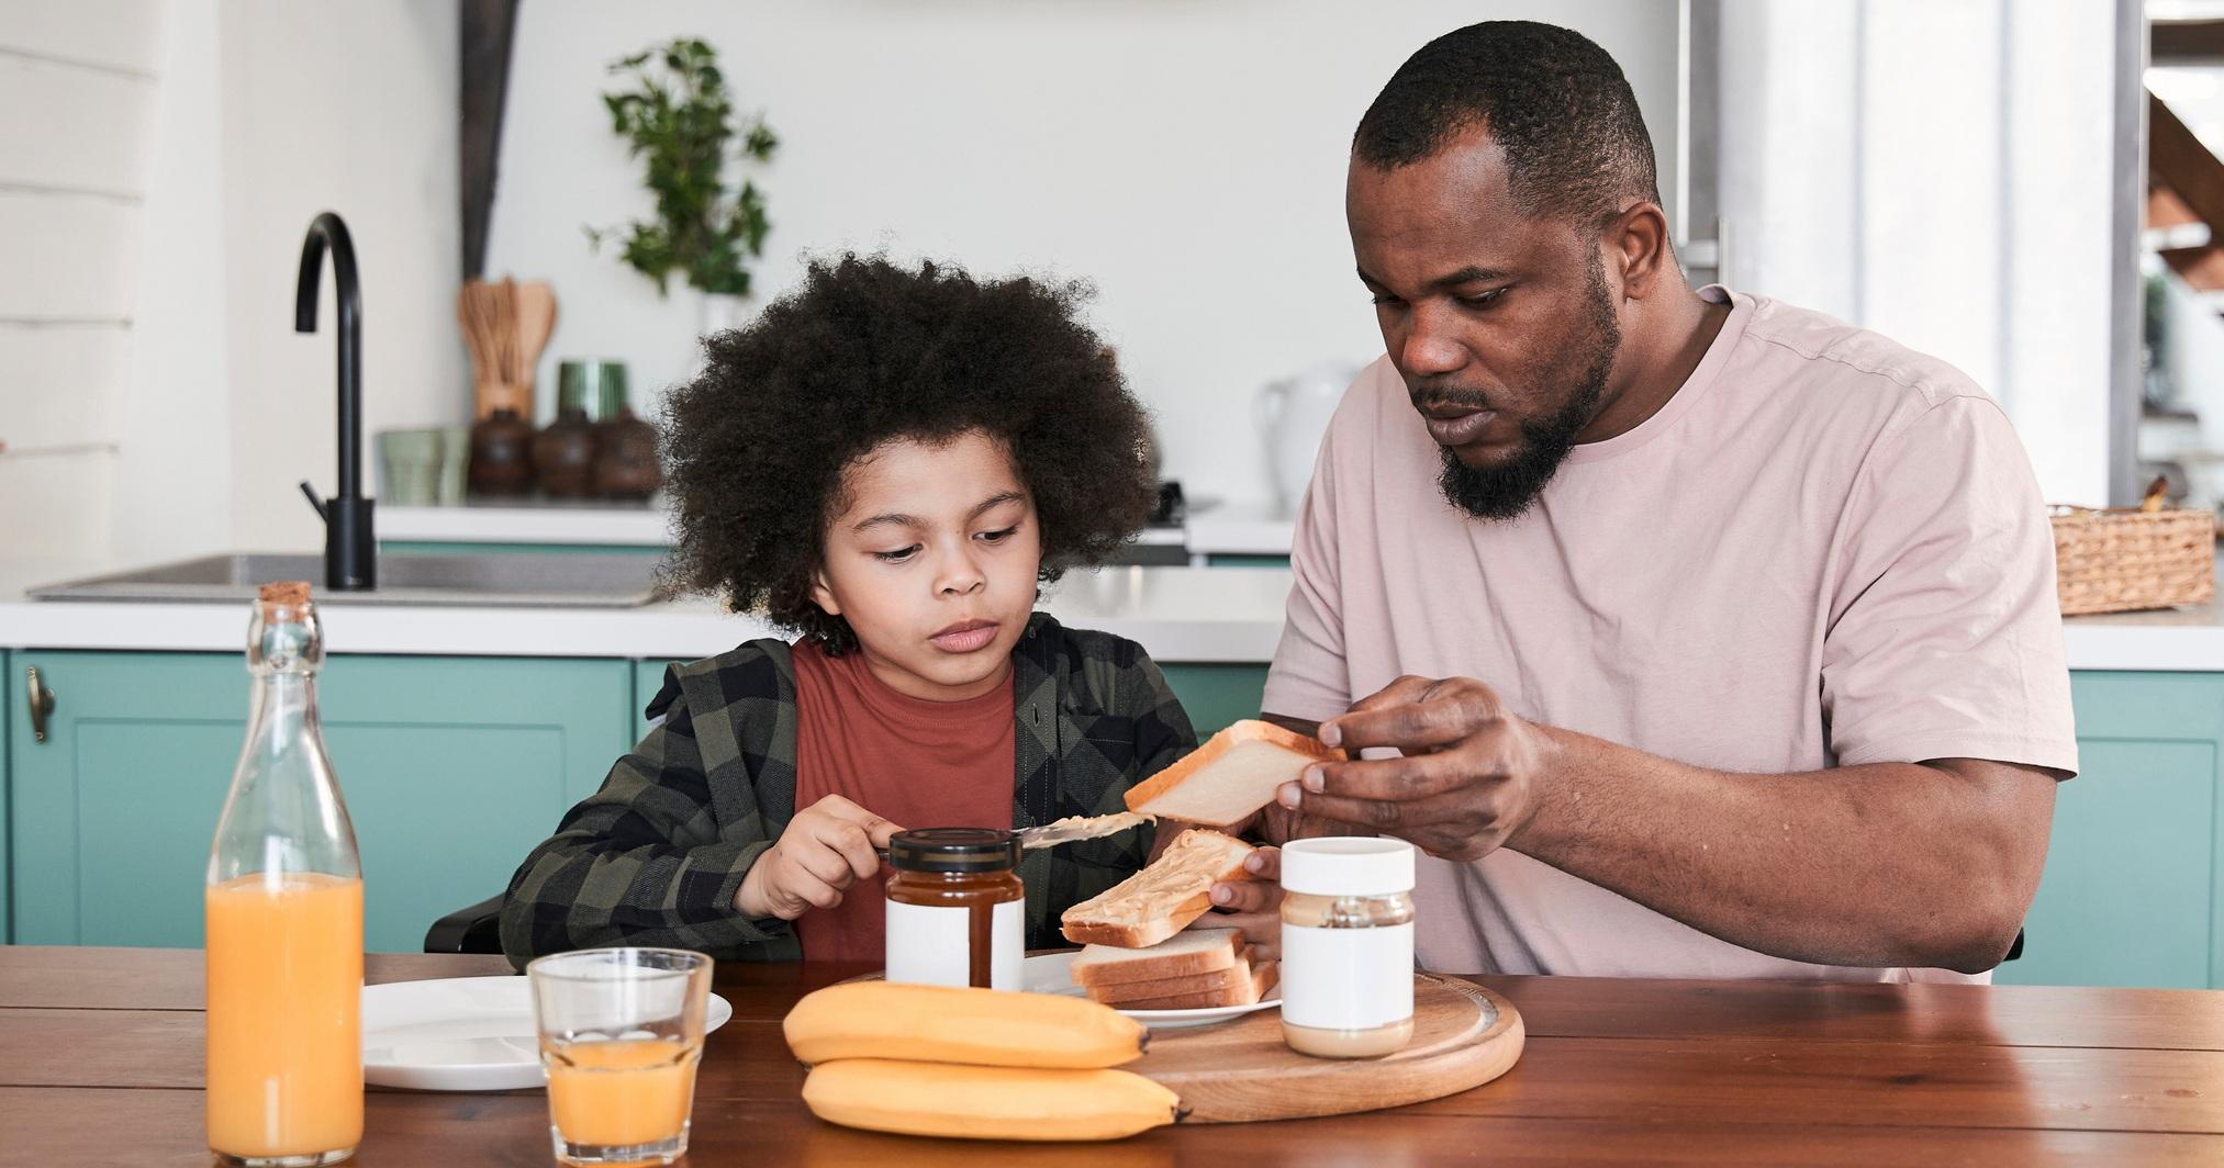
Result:
[[[843,472],[894,438],[987,432],[1012,454],[1043,532],[1043,581],[1105,563],[1156,503],[1150,418],[1076,320],[1085,285],[974,280],[885,256],[812,260],[803,287],[703,340],[665,400],[667,583],[845,652],[812,603]]]

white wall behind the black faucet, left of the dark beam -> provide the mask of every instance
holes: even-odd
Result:
[[[0,554],[322,543],[331,294],[296,336],[294,267],[327,207],[365,434],[465,418],[451,0],[0,4],[0,109],[38,111],[0,118]]]

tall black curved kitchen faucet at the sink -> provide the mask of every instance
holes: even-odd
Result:
[[[371,501],[363,496],[363,285],[356,283],[356,245],[331,211],[318,214],[300,240],[294,331],[316,331],[316,285],[327,249],[340,316],[340,489],[318,501],[305,478],[300,494],[325,518],[325,587],[369,592],[378,587],[378,543],[371,536]]]

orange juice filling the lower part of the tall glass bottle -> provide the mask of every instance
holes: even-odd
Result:
[[[207,890],[209,1148],[363,1141],[363,881],[256,872]]]

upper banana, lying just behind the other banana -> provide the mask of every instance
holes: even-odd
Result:
[[[1079,997],[847,981],[803,997],[783,1023],[805,1063],[1108,1068],[1143,1055],[1150,1028]]]

